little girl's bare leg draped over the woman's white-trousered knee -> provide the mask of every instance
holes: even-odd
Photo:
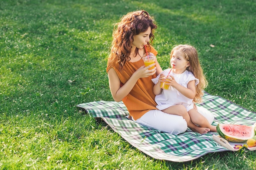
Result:
[[[186,111],[186,108],[183,105],[173,105],[173,106],[170,106],[170,107],[168,107],[168,108],[166,108],[162,111],[164,113],[168,113],[168,114],[171,114],[171,115],[182,116],[186,120],[188,127],[191,128],[191,130],[193,130],[195,132],[198,132],[200,134],[204,134],[204,133],[207,133],[207,132],[210,131],[210,129],[207,128],[207,127],[195,125],[191,121],[189,113]]]

